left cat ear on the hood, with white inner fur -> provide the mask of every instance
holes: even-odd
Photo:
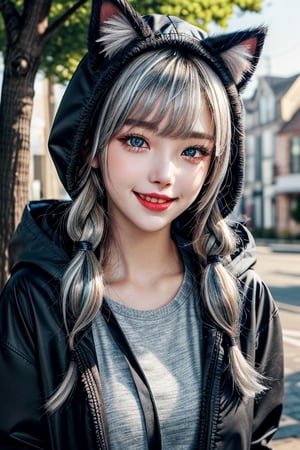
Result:
[[[93,0],[88,33],[92,65],[101,62],[99,54],[109,56],[125,48],[131,40],[152,34],[151,28],[126,0]]]

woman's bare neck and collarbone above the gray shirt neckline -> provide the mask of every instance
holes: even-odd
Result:
[[[183,265],[170,230],[113,236],[104,264],[105,295],[135,309],[170,302],[183,280]]]

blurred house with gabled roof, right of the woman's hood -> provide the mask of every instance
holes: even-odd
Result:
[[[296,234],[300,229],[291,219],[290,210],[300,195],[300,74],[259,78],[254,94],[244,104],[246,179],[242,212],[258,235]]]

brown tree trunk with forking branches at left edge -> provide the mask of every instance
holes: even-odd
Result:
[[[7,53],[0,104],[0,290],[8,278],[8,246],[28,201],[34,81],[45,45],[87,0],[77,0],[48,27],[52,0],[0,0]],[[56,2],[63,5],[64,2]]]

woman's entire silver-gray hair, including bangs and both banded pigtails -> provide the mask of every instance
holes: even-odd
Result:
[[[170,117],[163,134],[188,136],[199,119],[202,102],[207,102],[212,115],[215,151],[205,191],[195,206],[193,245],[202,265],[204,308],[211,321],[225,333],[233,337],[238,335],[240,302],[235,279],[221,264],[206,266],[208,255],[219,254],[226,258],[235,247],[235,239],[221,217],[216,201],[231,149],[229,101],[221,80],[210,67],[192,55],[170,48],[147,51],[135,57],[124,67],[99,105],[91,151],[81,173],[81,192],[68,215],[67,231],[73,241],[89,239],[94,249],[100,246],[99,258],[93,251],[75,254],[62,282],[64,317],[68,311],[74,316],[71,330],[65,320],[71,351],[76,334],[90,325],[98,313],[104,293],[103,261],[108,227],[101,198],[105,187],[99,174],[92,169],[93,159],[100,155],[101,170],[105,170],[110,139],[128,118],[146,120],[154,110],[157,111],[157,123],[161,123],[166,115]],[[240,392],[254,396],[262,390],[261,377],[237,346],[230,349],[230,361],[232,377]],[[64,383],[47,404],[49,410],[58,408],[66,400],[74,386],[76,373],[72,361]]]

